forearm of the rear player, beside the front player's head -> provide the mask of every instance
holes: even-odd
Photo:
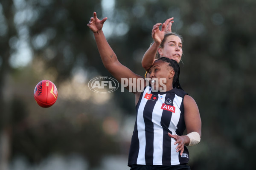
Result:
[[[157,54],[158,47],[159,47],[159,44],[157,44],[156,42],[153,42],[153,44],[145,52],[141,64],[142,64],[142,67],[146,71],[148,71],[148,69],[154,63],[154,58],[155,58],[155,56]]]

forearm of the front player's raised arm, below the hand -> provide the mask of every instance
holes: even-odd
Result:
[[[105,68],[109,69],[111,67],[111,64],[117,61],[116,54],[112,50],[111,46],[108,44],[108,41],[106,40],[102,30],[97,31],[93,34],[103,65],[105,66]]]

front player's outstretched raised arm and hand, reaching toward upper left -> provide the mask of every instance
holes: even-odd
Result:
[[[99,20],[96,12],[94,12],[93,17],[90,18],[90,21],[87,24],[90,30],[93,31],[103,65],[119,82],[121,82],[122,78],[140,78],[141,76],[135,74],[118,61],[116,54],[108,44],[102,31],[103,24],[107,19],[108,18],[105,17],[102,20]]]

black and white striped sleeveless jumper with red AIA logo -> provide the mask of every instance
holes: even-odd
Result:
[[[177,165],[188,163],[189,152],[176,152],[178,144],[171,134],[181,136],[185,130],[183,99],[185,91],[174,88],[166,92],[152,92],[145,87],[136,105],[137,119],[131,139],[128,166]]]

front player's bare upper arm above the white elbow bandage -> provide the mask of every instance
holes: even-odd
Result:
[[[195,100],[189,96],[184,96],[184,119],[186,124],[187,133],[198,132],[201,136],[201,118],[198,106]]]

